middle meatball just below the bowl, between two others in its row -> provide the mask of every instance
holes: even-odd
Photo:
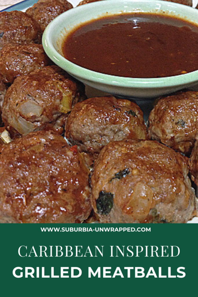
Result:
[[[66,138],[80,151],[98,154],[110,141],[146,139],[147,129],[139,106],[113,96],[79,102],[66,121]]]

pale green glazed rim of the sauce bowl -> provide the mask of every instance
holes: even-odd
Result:
[[[152,4],[153,7],[155,4],[159,3],[162,7],[165,6],[168,8],[179,8],[182,9],[185,12],[194,12],[197,13],[198,17],[198,10],[196,12],[196,9],[193,7],[189,7],[187,5],[178,4],[175,2],[169,2],[169,1],[162,1],[162,0],[102,0],[102,1],[96,1],[91,2],[86,5],[80,5],[79,7],[74,7],[70,10],[67,10],[66,12],[62,13],[58,17],[56,17],[54,20],[50,22],[50,24],[45,29],[43,36],[42,36],[42,44],[45,52],[50,57],[50,59],[55,62],[59,67],[66,70],[70,75],[77,77],[78,79],[91,81],[94,83],[103,83],[105,85],[109,86],[119,86],[124,88],[167,88],[172,86],[182,86],[186,84],[190,84],[193,82],[198,81],[198,70],[188,72],[181,75],[175,75],[175,76],[168,76],[168,77],[161,77],[161,78],[129,78],[129,77],[122,77],[122,76],[115,76],[115,75],[109,75],[104,74],[100,72],[96,72],[84,67],[81,67],[77,64],[72,63],[71,61],[67,60],[64,56],[62,56],[56,48],[53,46],[52,42],[52,30],[58,26],[59,23],[61,23],[64,19],[69,18],[70,15],[73,15],[74,13],[77,14],[78,12],[82,13],[83,11],[86,11],[91,8],[97,9],[98,6],[104,6],[107,2],[116,2],[116,3],[149,3]],[[111,4],[112,5],[112,4]],[[179,15],[179,11],[178,11]],[[91,19],[91,17],[90,17]],[[198,18],[197,18],[198,19]],[[80,23],[80,21],[79,21]],[[78,24],[79,24],[78,23]],[[82,23],[86,23],[82,22]],[[77,25],[78,25],[77,24]],[[77,26],[76,25],[76,26]],[[198,21],[197,21],[198,26]],[[75,28],[75,26],[72,26],[72,28]]]

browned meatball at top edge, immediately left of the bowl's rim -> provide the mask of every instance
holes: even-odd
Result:
[[[73,5],[66,0],[39,0],[32,7],[26,10],[41,26],[44,31],[47,25],[61,13],[73,8]]]

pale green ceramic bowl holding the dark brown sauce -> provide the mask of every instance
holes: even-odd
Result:
[[[66,34],[81,23],[122,12],[151,12],[175,15],[198,25],[198,10],[186,5],[156,0],[107,0],[75,7],[54,19],[43,34],[45,52],[58,66],[83,83],[121,97],[151,99],[198,84],[198,70],[165,78],[126,78],[94,72],[80,67],[62,55]]]

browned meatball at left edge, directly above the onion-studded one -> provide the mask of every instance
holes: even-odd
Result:
[[[41,44],[8,44],[0,52],[0,73],[5,83],[50,64]]]

